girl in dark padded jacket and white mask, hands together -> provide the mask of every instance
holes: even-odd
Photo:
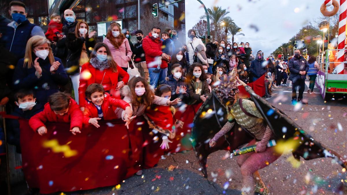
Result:
[[[171,87],[170,101],[179,97],[184,103],[188,103],[186,78],[183,77],[183,68],[179,63],[172,65],[171,74],[165,78],[163,84]]]

